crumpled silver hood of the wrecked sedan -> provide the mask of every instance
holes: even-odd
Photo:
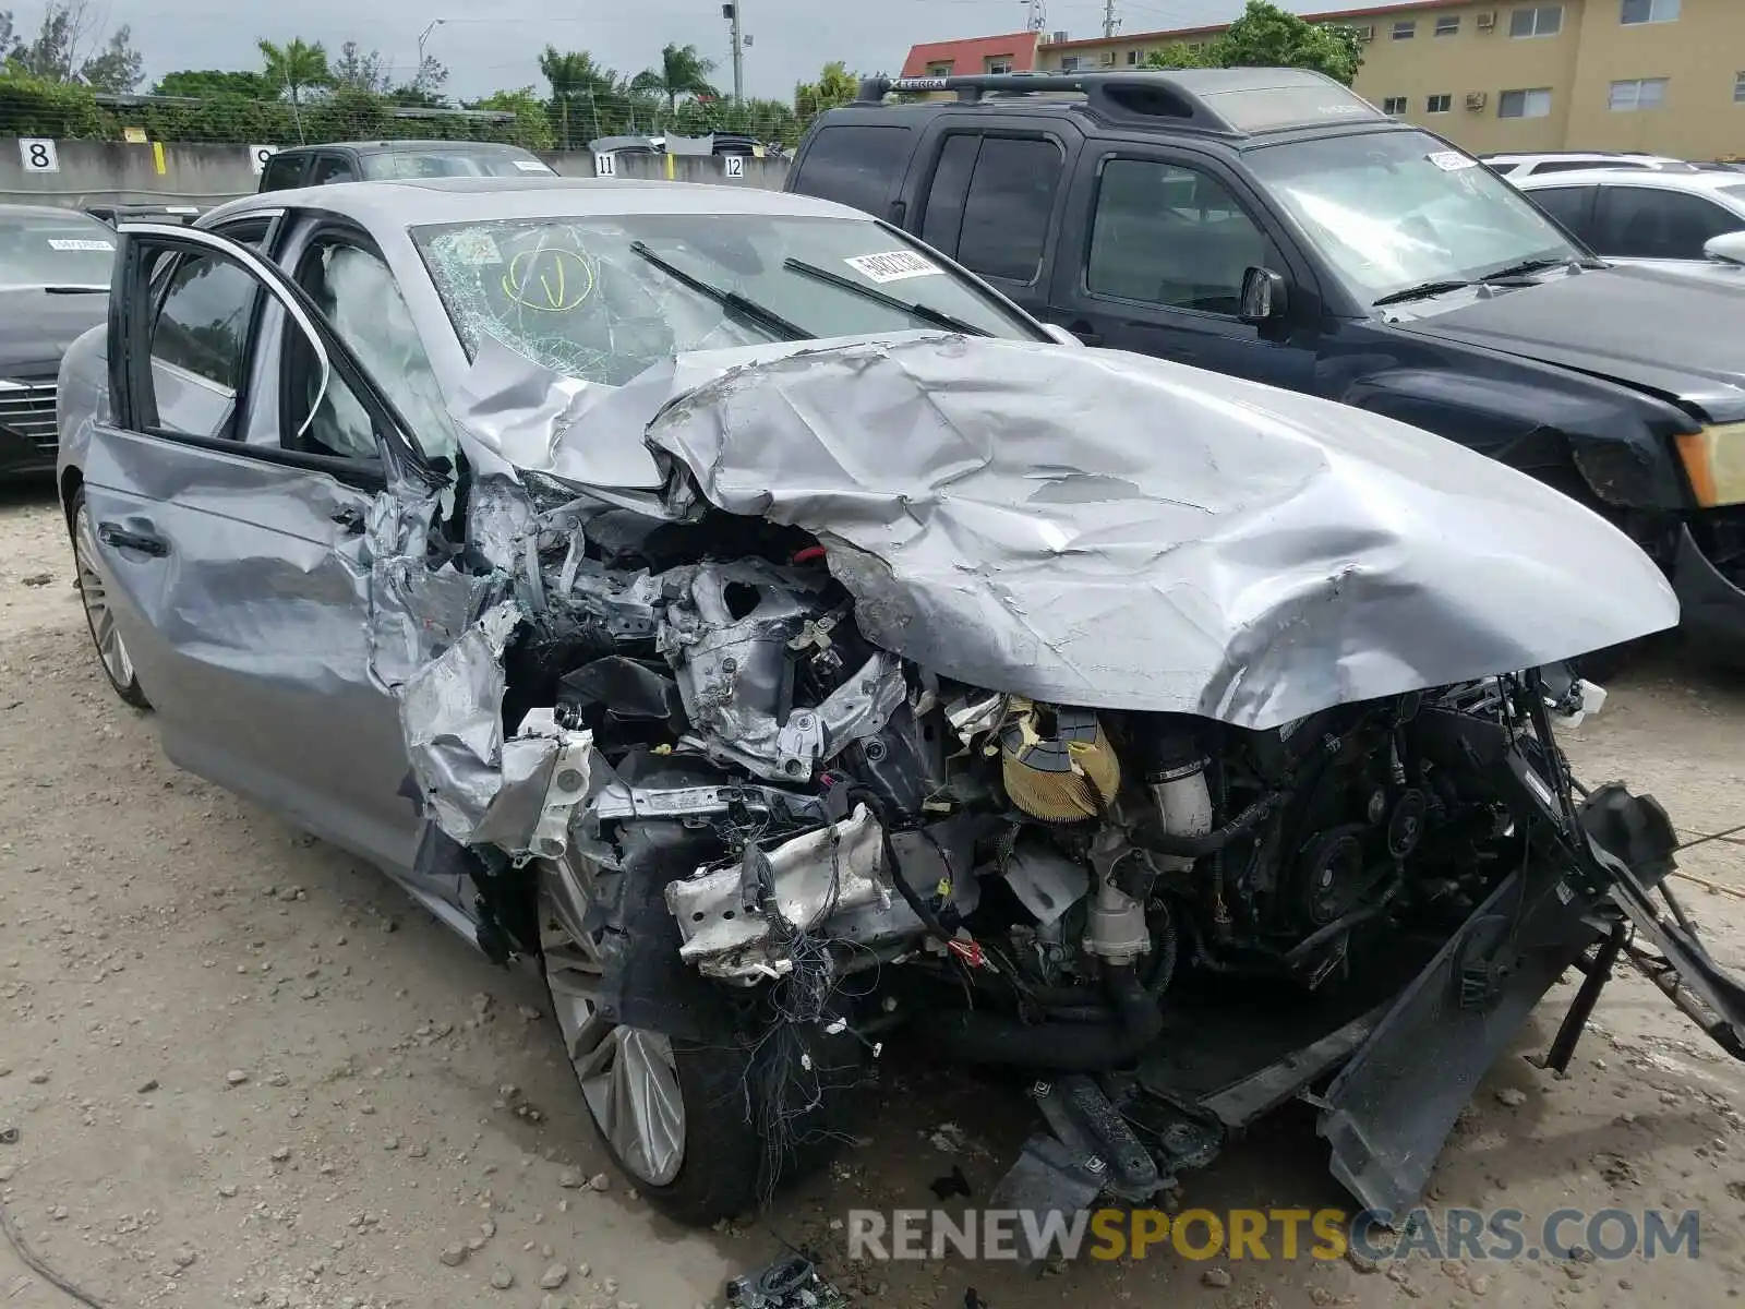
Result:
[[[537,367],[517,380],[482,358],[454,415],[618,503],[625,483],[590,463],[621,469],[633,431],[667,478],[651,510],[707,501],[803,527],[871,641],[1047,702],[1270,728],[1679,620],[1654,564],[1597,515],[1331,401],[939,333],[756,354],[651,368],[658,410],[583,407],[534,424],[550,442],[504,442],[527,436]]]

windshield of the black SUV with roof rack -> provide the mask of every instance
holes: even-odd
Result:
[[[1365,302],[1525,260],[1588,257],[1515,187],[1424,133],[1293,141],[1248,162]]]

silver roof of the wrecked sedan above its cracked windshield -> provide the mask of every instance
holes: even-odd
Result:
[[[721,213],[857,218],[871,215],[846,204],[761,187],[712,187],[696,182],[607,178],[407,178],[344,182],[326,187],[267,190],[222,204],[201,216],[201,227],[276,209],[323,209],[365,227],[490,222],[496,218],[585,218],[628,213]]]

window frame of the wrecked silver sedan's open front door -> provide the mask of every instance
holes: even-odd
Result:
[[[117,426],[143,433],[155,440],[178,442],[181,445],[192,445],[248,459],[260,459],[263,463],[284,464],[288,468],[305,468],[311,471],[330,473],[340,482],[361,485],[372,490],[384,489],[396,473],[415,476],[433,487],[445,480],[447,469],[431,466],[410,442],[405,431],[405,422],[394,412],[387,398],[377,393],[363,368],[352,358],[346,342],[339,339],[333,328],[321,316],[321,311],[316,309],[302,288],[297,286],[297,283],[265,255],[251,246],[239,244],[237,241],[208,229],[166,227],[161,223],[124,223],[117,236],[122,239],[122,250],[117,260],[115,286],[110,293],[112,332],[120,339],[119,347],[110,349],[110,391],[113,396]],[[187,255],[227,258],[229,262],[237,264],[257,283],[257,312],[251,318],[250,335],[244,346],[250,363],[243,370],[243,386],[237,391],[239,422],[243,421],[241,415],[253,403],[257,394],[257,389],[251,386],[250,374],[253,372],[253,361],[260,351],[260,307],[262,291],[265,291],[265,295],[272,297],[279,304],[288,321],[297,323],[305,335],[319,342],[321,351],[328,360],[328,384],[332,386],[333,375],[340,377],[370,414],[377,435],[377,457],[347,459],[342,456],[307,454],[302,450],[288,450],[283,445],[246,443],[243,440],[225,436],[199,436],[166,429],[161,424],[145,424],[141,421],[141,396],[150,394],[152,358],[150,349],[141,351],[133,349],[131,346],[140,333],[150,333],[155,326],[157,305],[155,297],[150,295],[147,278],[150,272],[150,260],[154,260],[159,253],[171,253],[178,257],[178,264],[181,262],[180,257]],[[136,305],[141,300],[150,305],[143,323],[140,321],[138,311],[131,309],[131,305]],[[277,400],[283,405],[283,394],[277,396]]]

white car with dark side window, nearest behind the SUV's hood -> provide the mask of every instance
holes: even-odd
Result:
[[[1602,168],[1509,182],[1605,258],[1705,262],[1714,237],[1745,232],[1745,176],[1733,171]]]

